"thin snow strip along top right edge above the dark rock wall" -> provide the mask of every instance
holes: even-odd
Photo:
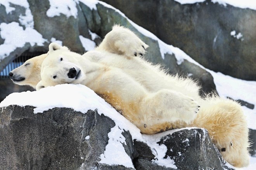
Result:
[[[175,0],[181,4],[192,4],[192,3],[200,3],[205,0]],[[219,3],[224,5],[225,7],[228,5],[232,5],[238,8],[250,8],[256,10],[256,1],[255,0],[211,0],[213,3]]]

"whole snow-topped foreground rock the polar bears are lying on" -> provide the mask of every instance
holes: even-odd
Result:
[[[0,120],[1,170],[232,169],[205,129],[143,135],[83,85],[13,93]]]

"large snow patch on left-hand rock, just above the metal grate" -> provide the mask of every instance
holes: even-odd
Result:
[[[17,22],[1,23],[0,35],[4,39],[3,44],[0,45],[0,61],[16,48],[23,47],[26,42],[29,42],[31,46],[35,44],[43,46],[43,43],[47,42],[47,39],[44,39],[35,29],[26,27],[24,30]]]

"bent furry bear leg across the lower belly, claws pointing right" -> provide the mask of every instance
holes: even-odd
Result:
[[[199,105],[192,98],[172,90],[159,90],[145,99],[144,113],[151,122],[192,122]]]

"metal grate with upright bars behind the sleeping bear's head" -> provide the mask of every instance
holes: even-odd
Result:
[[[21,66],[23,63],[25,63],[28,59],[33,58],[35,56],[39,56],[41,54],[44,54],[45,52],[35,52],[35,53],[22,53],[21,56],[14,59],[12,62],[10,62],[1,72],[0,72],[0,78],[7,78],[9,77],[10,71],[13,69]]]

